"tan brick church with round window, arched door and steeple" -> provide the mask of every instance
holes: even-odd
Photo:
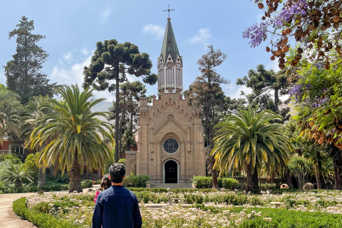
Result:
[[[189,183],[206,174],[202,121],[200,108],[183,95],[183,61],[170,16],[157,72],[152,105],[140,98],[138,151],[126,152],[126,175],[148,175],[155,184]]]

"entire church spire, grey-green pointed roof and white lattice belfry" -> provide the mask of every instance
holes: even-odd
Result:
[[[158,91],[160,92],[162,89],[168,90],[169,88],[174,91],[183,90],[182,56],[178,51],[170,16],[167,18],[162,51],[158,58]]]

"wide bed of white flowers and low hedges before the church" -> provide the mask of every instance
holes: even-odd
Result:
[[[135,193],[140,201],[167,202],[165,192]],[[51,224],[53,227],[90,227],[93,197],[93,192],[33,195],[16,200],[14,212],[38,227],[51,227]],[[342,219],[340,191],[281,195],[173,192],[171,197],[195,199],[201,204],[192,204],[189,208],[177,205],[163,209],[141,207],[143,227],[338,227]],[[286,208],[272,208],[274,205],[270,202],[283,202]],[[208,203],[211,206],[208,207]]]

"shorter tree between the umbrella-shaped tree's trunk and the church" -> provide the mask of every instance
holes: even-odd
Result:
[[[122,157],[125,150],[130,150],[135,145],[135,133],[138,130],[139,98],[145,96],[145,85],[140,81],[126,82],[120,85],[120,121],[119,121],[119,152]],[[108,120],[115,120],[116,102],[109,109]],[[115,133],[116,134],[116,133]]]

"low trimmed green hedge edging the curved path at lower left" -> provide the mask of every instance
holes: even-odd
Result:
[[[35,209],[27,208],[26,197],[21,197],[13,202],[14,213],[18,214],[23,219],[28,219],[33,224],[36,224],[40,228],[72,228],[79,227],[73,222],[63,221],[53,216],[53,214],[46,214],[39,212]]]

